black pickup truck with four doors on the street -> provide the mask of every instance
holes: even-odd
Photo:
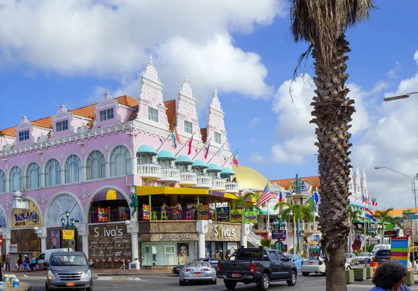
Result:
[[[294,286],[297,269],[294,262],[276,250],[264,248],[240,248],[233,260],[220,260],[217,277],[224,279],[225,287],[233,290],[238,282],[256,283],[260,290],[268,290],[270,281],[287,281]]]

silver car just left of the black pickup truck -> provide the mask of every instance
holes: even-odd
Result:
[[[180,269],[178,285],[182,286],[193,281],[210,281],[211,284],[216,284],[216,271],[208,262],[189,262]]]

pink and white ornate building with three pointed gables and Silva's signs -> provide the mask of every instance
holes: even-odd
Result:
[[[67,227],[76,230],[70,247],[99,267],[168,267],[184,246],[189,260],[238,248],[249,230],[229,211],[238,184],[217,93],[199,128],[187,77],[174,100],[162,87],[150,59],[139,98],[105,93],[1,130],[3,254],[66,248]]]

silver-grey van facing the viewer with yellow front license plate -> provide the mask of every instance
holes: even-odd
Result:
[[[93,291],[93,279],[86,255],[82,252],[54,252],[49,257],[47,282],[45,290],[53,289],[86,289]]]

